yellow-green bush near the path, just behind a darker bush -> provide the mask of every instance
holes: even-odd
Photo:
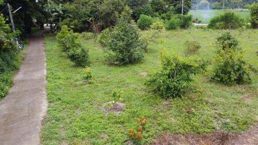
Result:
[[[62,26],[61,31],[56,35],[56,39],[61,45],[63,51],[69,51],[72,48],[81,47],[78,37],[79,34],[73,33],[73,30],[69,29],[66,25]]]

